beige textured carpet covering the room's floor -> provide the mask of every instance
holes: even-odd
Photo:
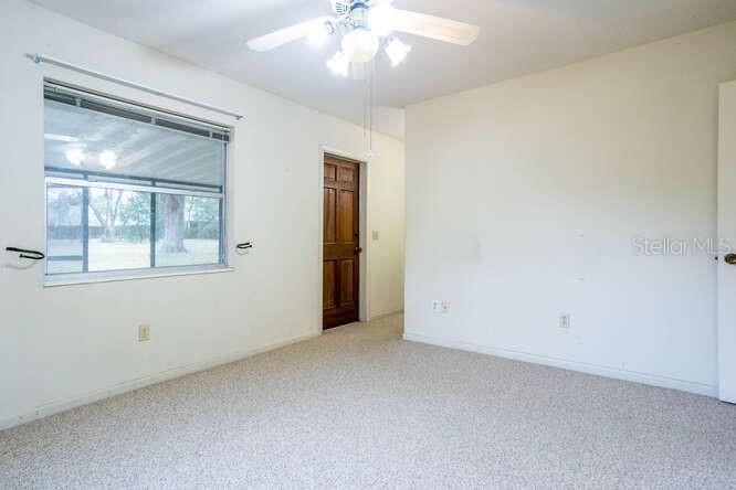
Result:
[[[736,488],[736,407],[401,317],[0,433],[0,488]]]

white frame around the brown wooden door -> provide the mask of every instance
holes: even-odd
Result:
[[[369,172],[369,166],[368,162],[360,160],[356,158],[353,153],[349,151],[344,151],[337,148],[332,148],[327,147],[324,145],[319,146],[319,160],[317,162],[318,164],[318,172],[317,174],[319,175],[319,233],[318,233],[318,242],[317,242],[317,274],[319,277],[319,288],[317,289],[317,294],[315,295],[315,299],[317,301],[317,328],[318,331],[322,331],[322,321],[323,321],[323,288],[324,288],[324,269],[323,269],[323,258],[324,258],[324,252],[325,252],[325,155],[334,155],[335,157],[344,158],[346,160],[353,161],[355,163],[358,163],[359,168],[359,182],[360,182],[360,189],[358,191],[358,205],[360,207],[360,216],[358,219],[359,224],[358,224],[358,233],[360,233],[360,248],[362,248],[362,254],[359,255],[358,258],[358,264],[359,264],[359,278],[358,278],[358,284],[359,284],[359,291],[358,291],[358,297],[359,297],[359,305],[358,305],[358,319],[360,321],[368,321],[369,320],[369,311],[370,311],[370,305],[368,303],[368,298],[370,295],[368,294],[368,285],[370,284],[369,279],[369,271],[368,267],[370,264],[370,247],[368,246],[368,172]]]

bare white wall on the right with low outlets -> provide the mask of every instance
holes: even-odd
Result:
[[[735,46],[729,23],[409,107],[407,338],[714,394],[714,259],[631,239],[715,237]]]

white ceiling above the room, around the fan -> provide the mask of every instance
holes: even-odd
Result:
[[[362,124],[365,86],[333,76],[322,49],[270,53],[245,41],[330,13],[328,0],[34,0],[104,31],[249,85]],[[736,19],[736,0],[395,0],[395,6],[481,25],[470,47],[411,35],[408,63],[377,63],[376,128],[403,138],[411,103],[562,66]]]

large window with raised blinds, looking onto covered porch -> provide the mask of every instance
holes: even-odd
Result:
[[[46,83],[46,275],[224,267],[227,128]]]

